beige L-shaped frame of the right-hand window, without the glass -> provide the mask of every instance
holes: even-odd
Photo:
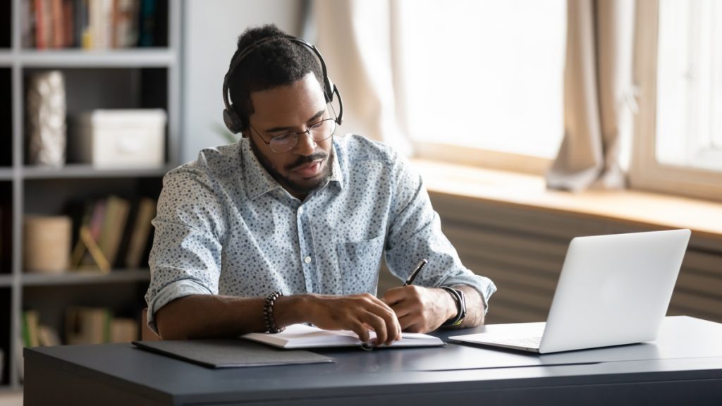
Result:
[[[656,160],[659,1],[638,1],[636,20],[634,75],[639,89],[639,112],[632,137],[630,189],[722,201],[722,173]]]

